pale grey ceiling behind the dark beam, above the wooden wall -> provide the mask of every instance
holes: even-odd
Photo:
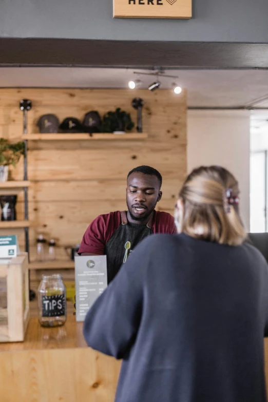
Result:
[[[132,69],[74,67],[3,67],[0,87],[128,88],[129,80],[139,78],[141,88],[154,76],[133,73]],[[142,72],[142,70],[139,70]],[[143,72],[149,72],[143,71]],[[188,91],[189,107],[268,108],[268,70],[166,70],[178,79],[161,78],[162,88],[174,82]],[[260,101],[267,98],[264,101]]]

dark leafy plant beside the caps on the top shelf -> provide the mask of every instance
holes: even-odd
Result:
[[[100,132],[113,132],[114,134],[124,134],[134,127],[131,116],[118,107],[115,111],[109,111],[103,117]]]

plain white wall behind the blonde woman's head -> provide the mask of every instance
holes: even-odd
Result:
[[[221,165],[239,181],[240,212],[250,228],[250,111],[189,110],[188,171],[200,165]]]

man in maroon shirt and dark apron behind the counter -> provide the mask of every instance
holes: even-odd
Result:
[[[100,215],[88,226],[80,255],[106,255],[108,283],[116,276],[134,247],[155,233],[177,233],[174,218],[155,210],[161,200],[162,176],[150,166],[132,169],[127,176],[127,212]]]

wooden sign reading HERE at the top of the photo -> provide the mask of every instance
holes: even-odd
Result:
[[[192,0],[113,0],[115,18],[191,18]]]

